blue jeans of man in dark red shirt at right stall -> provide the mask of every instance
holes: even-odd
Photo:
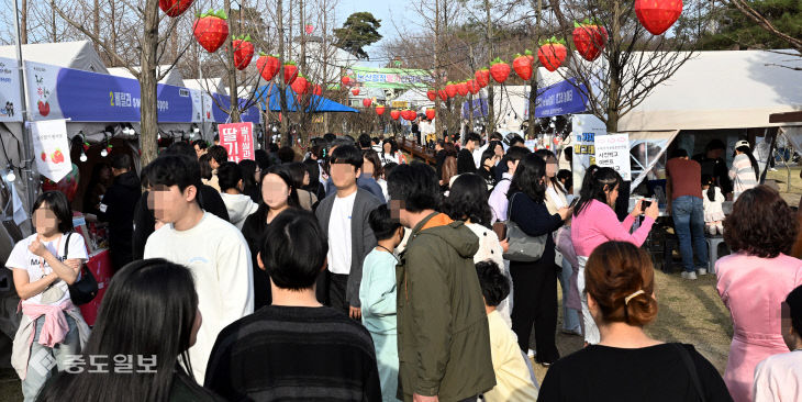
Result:
[[[682,255],[682,268],[693,272],[693,248],[699,257],[699,268],[708,268],[708,242],[704,239],[704,209],[702,199],[682,196],[671,203],[673,228],[679,238],[679,252]]]

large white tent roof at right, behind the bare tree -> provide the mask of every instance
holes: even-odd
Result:
[[[784,66],[784,67],[783,67]],[[793,51],[700,52],[635,110],[619,130],[767,127],[769,114],[802,109],[802,57]]]

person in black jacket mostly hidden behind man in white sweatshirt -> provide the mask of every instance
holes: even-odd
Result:
[[[166,150],[165,155],[186,155],[194,157],[194,150],[189,143],[174,143]],[[200,167],[199,167],[200,169]],[[147,167],[142,169],[142,178],[147,177]],[[143,187],[148,187],[143,180]],[[132,238],[134,260],[142,259],[145,254],[145,243],[151,233],[156,230],[156,217],[153,215],[153,200],[148,201],[149,191],[145,191],[136,202],[134,209],[134,234]],[[223,198],[220,192],[207,185],[200,185],[198,188],[198,203],[203,211],[210,212],[218,217],[229,221],[229,210],[225,209]]]

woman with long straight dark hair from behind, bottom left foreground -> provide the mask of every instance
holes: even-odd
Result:
[[[192,372],[187,350],[197,312],[189,269],[160,258],[126,265],[111,280],[82,357],[90,361],[90,356],[155,356],[155,372],[62,372],[37,401],[168,401],[176,376],[207,393],[193,380],[187,381]]]

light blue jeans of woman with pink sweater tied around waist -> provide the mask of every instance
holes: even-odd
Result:
[[[69,331],[65,335],[64,340],[56,344],[53,348],[38,343],[42,327],[45,324],[45,316],[42,315],[36,319],[36,333],[31,344],[31,357],[27,359],[27,373],[25,375],[25,379],[22,380],[22,395],[25,398],[25,402],[36,400],[36,395],[38,395],[45,381],[54,373],[54,369],[57,367],[58,371],[64,371],[67,368],[66,365],[69,362],[69,356],[80,353],[78,326],[71,316],[66,313],[64,315],[67,319]]]

